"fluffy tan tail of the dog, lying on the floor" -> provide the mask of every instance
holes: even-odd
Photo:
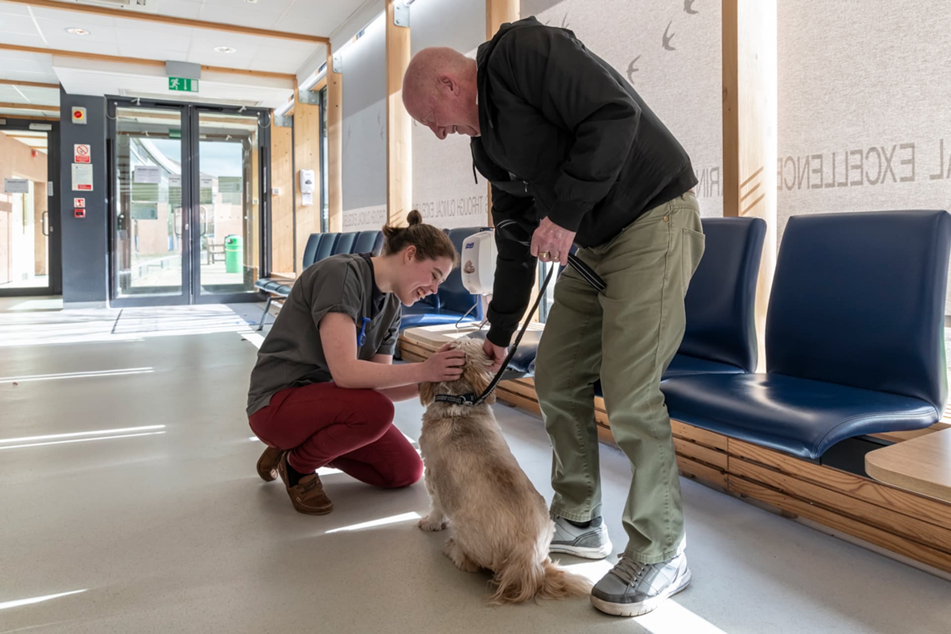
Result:
[[[529,599],[563,599],[591,593],[591,582],[553,564],[551,557],[539,562],[534,552],[515,556],[495,573],[495,593],[490,605],[520,604]],[[521,560],[521,561],[518,561]]]

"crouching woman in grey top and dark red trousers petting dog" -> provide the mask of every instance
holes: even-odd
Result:
[[[400,304],[437,292],[456,265],[452,241],[417,211],[383,234],[380,257],[342,254],[301,273],[251,373],[248,422],[268,447],[258,473],[280,473],[301,513],[333,509],[320,467],[377,487],[417,482],[422,461],[393,425],[393,402],[416,397],[422,381],[462,374],[463,355],[448,346],[423,363],[392,364]]]

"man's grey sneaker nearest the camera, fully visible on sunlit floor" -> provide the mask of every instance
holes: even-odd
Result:
[[[622,555],[592,588],[592,605],[608,614],[640,616],[689,585],[684,553],[660,564],[639,564]]]

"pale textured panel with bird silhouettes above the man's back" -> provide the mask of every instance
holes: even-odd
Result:
[[[785,2],[785,0],[784,0]],[[782,4],[782,3],[781,3]],[[573,30],[628,77],[687,150],[704,216],[723,215],[720,3],[697,0],[522,0],[521,15]],[[670,37],[664,48],[664,34]]]

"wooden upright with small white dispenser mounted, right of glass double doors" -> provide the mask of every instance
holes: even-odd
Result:
[[[297,258],[293,270],[301,273],[304,246],[312,233],[320,233],[320,106],[304,104],[294,87],[294,226]],[[311,204],[303,204],[301,169],[313,169],[316,179]]]

